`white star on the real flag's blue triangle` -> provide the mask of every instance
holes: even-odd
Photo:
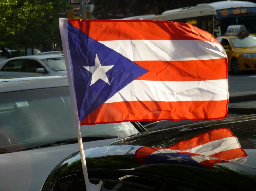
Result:
[[[114,65],[101,66],[99,58],[96,54],[94,66],[84,66],[84,68],[92,73],[91,85],[94,84],[99,79],[103,80],[104,82],[106,82],[110,85],[109,80],[108,80],[107,75],[106,75],[106,72],[108,70],[110,70],[113,66]]]

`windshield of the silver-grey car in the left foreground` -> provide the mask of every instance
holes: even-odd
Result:
[[[130,122],[81,126],[82,137],[135,133]],[[69,87],[0,93],[0,151],[75,138]]]

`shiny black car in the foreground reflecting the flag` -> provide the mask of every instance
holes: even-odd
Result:
[[[101,191],[255,190],[256,115],[144,132],[85,150]],[[42,191],[85,189],[80,153],[61,161]]]

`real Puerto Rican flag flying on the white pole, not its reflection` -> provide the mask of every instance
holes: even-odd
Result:
[[[227,56],[169,21],[60,19],[77,126],[227,116]]]

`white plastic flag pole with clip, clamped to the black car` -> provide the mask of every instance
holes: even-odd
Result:
[[[103,181],[100,181],[99,184],[91,184],[88,178],[86,160],[85,160],[85,152],[83,150],[83,141],[80,131],[80,120],[78,117],[78,110],[77,110],[77,100],[76,100],[76,93],[74,89],[74,82],[73,76],[71,71],[71,59],[70,59],[70,51],[68,46],[68,19],[60,18],[60,33],[61,33],[61,41],[62,47],[64,51],[64,58],[67,68],[67,75],[68,75],[68,82],[69,82],[69,90],[70,90],[70,97],[71,97],[71,104],[73,109],[73,117],[74,117],[74,127],[76,127],[77,131],[77,139],[79,145],[79,151],[81,156],[82,168],[83,168],[83,176],[85,178],[85,185],[87,191],[99,191]]]

